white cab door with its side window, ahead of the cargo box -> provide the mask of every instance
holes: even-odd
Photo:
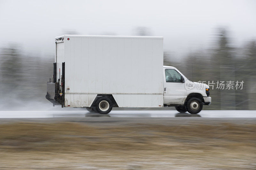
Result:
[[[164,103],[183,104],[187,97],[185,83],[180,82],[180,73],[164,68]]]

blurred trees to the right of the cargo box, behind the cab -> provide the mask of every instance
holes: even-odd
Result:
[[[245,42],[242,47],[232,47],[228,31],[219,28],[215,40],[211,48],[197,49],[183,60],[177,60],[172,53],[164,52],[164,65],[176,67],[194,82],[206,81],[205,84],[213,85],[213,89],[210,86],[212,105],[204,109],[255,110],[255,39]],[[217,88],[218,81],[225,81],[224,89]],[[234,89],[226,89],[227,81],[234,81]],[[235,88],[236,81],[244,81],[243,89]]]

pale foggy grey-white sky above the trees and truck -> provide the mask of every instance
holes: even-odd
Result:
[[[66,31],[134,35],[138,26],[164,36],[164,50],[182,56],[211,45],[215,29],[229,29],[234,45],[256,37],[256,1],[7,1],[0,0],[0,47],[54,55],[54,37]]]

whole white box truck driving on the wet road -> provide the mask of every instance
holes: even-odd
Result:
[[[163,37],[62,35],[55,44],[46,94],[53,106],[100,114],[112,107],[174,106],[197,114],[211,104],[208,85],[163,66]]]

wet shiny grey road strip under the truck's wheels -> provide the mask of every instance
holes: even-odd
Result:
[[[0,118],[53,118],[53,117],[130,117],[130,118],[256,118],[256,110],[203,110],[199,114],[179,113],[176,110],[112,110],[108,115],[89,113],[84,109],[70,108],[44,111],[0,111]]]

